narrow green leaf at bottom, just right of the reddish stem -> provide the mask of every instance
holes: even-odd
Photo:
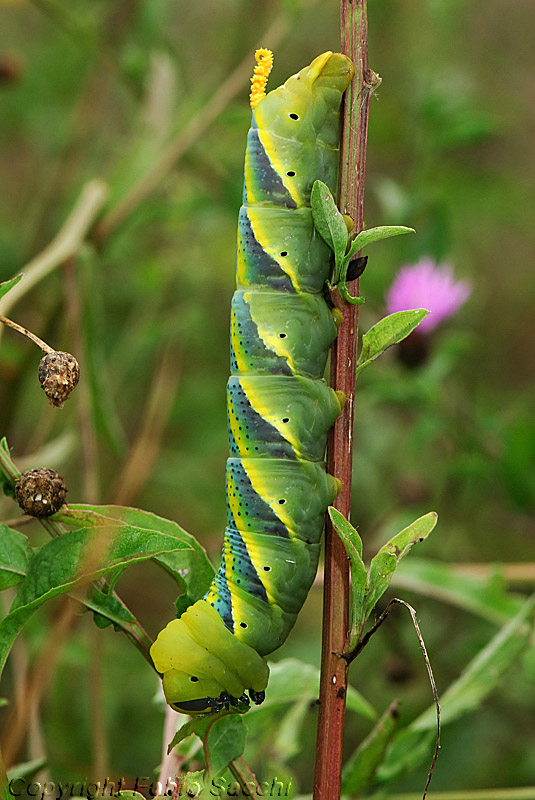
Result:
[[[397,703],[392,703],[344,765],[342,794],[357,795],[371,786],[396,732],[398,721]]]

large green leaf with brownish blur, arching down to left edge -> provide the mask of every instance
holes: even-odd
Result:
[[[116,511],[117,514],[124,512],[126,517],[132,516],[138,523],[143,519],[154,517],[137,509],[103,508]],[[132,512],[132,515],[127,512]],[[61,517],[69,519],[72,523],[74,517],[80,521],[80,517],[84,514],[90,522],[89,530],[81,528],[67,531],[63,536],[52,539],[41,547],[30,562],[26,578],[21,584],[9,614],[0,623],[0,671],[4,667],[15,638],[33,612],[49,598],[77,589],[81,581],[86,585],[89,581],[110,572],[115,573],[118,568],[124,569],[130,564],[153,558],[161,562],[177,580],[180,579],[182,584],[197,586],[197,577],[192,574],[192,564],[195,564],[199,554],[203,553],[202,548],[193,537],[181,531],[174,523],[155,518],[159,520],[161,528],[170,528],[172,533],[169,534],[141,528],[140,524],[137,526],[123,524],[117,519],[103,517],[92,510],[74,510],[74,514],[71,515],[63,512]],[[100,519],[95,524],[97,517]],[[95,564],[97,555],[98,564]],[[203,558],[208,564],[206,556]],[[180,569],[182,574],[179,573]],[[97,609],[99,612],[102,610],[104,609]]]

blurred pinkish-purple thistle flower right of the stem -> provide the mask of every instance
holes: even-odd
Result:
[[[429,315],[418,325],[420,333],[429,333],[470,297],[468,281],[456,281],[448,264],[436,264],[421,258],[417,264],[402,267],[386,295],[389,314],[411,308],[427,308]]]

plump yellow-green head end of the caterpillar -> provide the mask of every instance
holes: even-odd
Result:
[[[264,659],[225,627],[205,600],[160,632],[151,657],[169,705],[184,714],[221,711],[239,700],[262,702],[269,670]],[[239,699],[239,700],[238,700]]]

